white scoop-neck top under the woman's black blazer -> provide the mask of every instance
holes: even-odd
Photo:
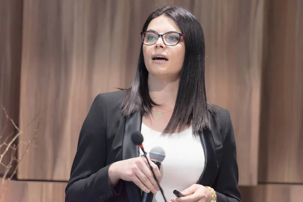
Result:
[[[154,146],[164,148],[166,157],[161,164],[160,173],[166,200],[176,197],[173,190],[183,191],[197,183],[204,171],[205,156],[200,138],[192,135],[191,126],[171,136],[161,135],[161,132],[148,128],[142,123],[143,147],[148,153]],[[141,153],[142,155],[142,153]],[[164,201],[161,191],[158,191],[153,202]]]

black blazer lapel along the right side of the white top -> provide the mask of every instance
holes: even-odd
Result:
[[[203,186],[212,186],[214,182],[214,174],[217,169],[215,144],[211,130],[200,132],[201,144],[204,148],[205,168],[198,183]]]

